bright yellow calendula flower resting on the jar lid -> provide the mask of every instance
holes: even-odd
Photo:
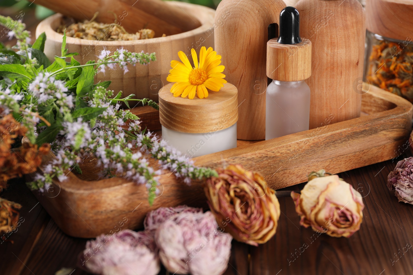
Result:
[[[222,73],[225,66],[221,63],[221,55],[216,54],[216,51],[209,47],[201,48],[198,56],[195,49],[191,49],[194,66],[188,60],[184,52],[178,52],[178,56],[182,62],[172,60],[169,75],[166,78],[169,82],[176,82],[172,85],[171,93],[173,96],[189,97],[193,99],[195,92],[200,99],[208,96],[208,90],[218,92],[221,87],[227,82],[225,75]]]

